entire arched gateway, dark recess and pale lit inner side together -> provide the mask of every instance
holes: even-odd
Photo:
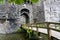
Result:
[[[28,9],[22,9],[21,10],[21,21],[22,23],[29,23],[29,10]]]

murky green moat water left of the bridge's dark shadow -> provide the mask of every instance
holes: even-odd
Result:
[[[6,34],[2,35],[0,34],[0,40],[26,40],[23,36],[23,34]]]

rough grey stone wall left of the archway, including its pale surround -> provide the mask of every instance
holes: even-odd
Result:
[[[1,6],[1,5],[0,5]],[[3,4],[2,9],[0,8],[0,19],[6,20],[4,23],[0,22],[0,33],[6,34],[6,33],[12,33],[16,32],[16,29],[21,27],[22,21],[24,21],[24,18],[21,20],[21,10],[22,9],[28,9],[29,13],[27,15],[29,16],[29,23],[33,23],[33,9],[32,6],[27,5],[9,5],[7,6],[7,10],[3,11],[3,8],[5,7],[5,4]],[[6,11],[6,12],[5,12]],[[3,12],[3,14],[1,14]],[[7,14],[7,15],[4,15]],[[24,24],[24,23],[23,23]]]

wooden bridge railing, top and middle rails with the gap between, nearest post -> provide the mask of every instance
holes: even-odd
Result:
[[[32,29],[32,27],[36,27],[37,31],[38,28],[46,28],[47,29],[47,33],[48,33],[48,39],[51,40],[51,33],[50,30],[55,30],[60,32],[60,23],[59,22],[40,22],[40,23],[32,23],[32,24],[23,24],[22,27],[24,29]]]

